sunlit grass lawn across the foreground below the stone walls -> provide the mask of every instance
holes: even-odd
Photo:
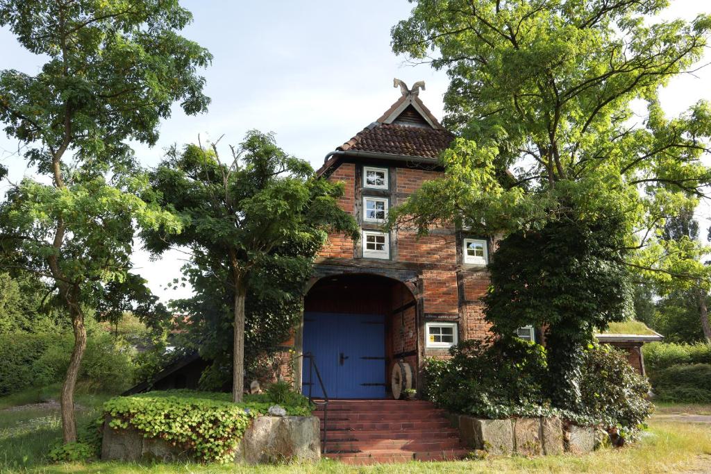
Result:
[[[105,397],[82,395],[80,420],[97,415]],[[0,404],[9,404],[0,399]],[[0,405],[1,406],[1,405]],[[245,467],[234,465],[142,465],[129,463],[57,464],[46,460],[50,446],[60,438],[60,419],[53,408],[0,411],[0,473],[702,473],[711,468],[711,427],[650,421],[642,441],[619,450],[587,456],[490,458],[451,463],[408,463],[351,467],[332,461],[321,463]]]

